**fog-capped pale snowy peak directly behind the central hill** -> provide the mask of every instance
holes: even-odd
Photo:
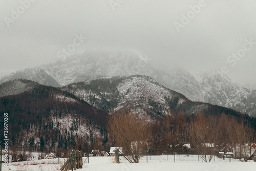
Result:
[[[62,86],[84,79],[144,75],[154,72],[136,53],[112,51],[90,51],[65,60],[59,59],[41,68]]]

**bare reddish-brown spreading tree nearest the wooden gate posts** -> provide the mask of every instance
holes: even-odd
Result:
[[[116,145],[122,147],[124,157],[130,163],[138,163],[151,136],[147,123],[132,113],[119,111],[110,116],[108,129]]]

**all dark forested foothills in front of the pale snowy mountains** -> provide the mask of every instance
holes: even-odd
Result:
[[[0,96],[0,112],[8,113],[9,118],[9,144],[32,151],[49,152],[72,146],[89,151],[98,143],[109,149],[113,143],[107,131],[109,113],[123,108],[148,123],[160,123],[171,113],[184,113],[187,122],[190,116],[200,113],[218,117],[224,113],[248,121],[256,130],[255,117],[191,101],[142,75],[84,80],[61,88],[15,79],[1,84]],[[0,125],[4,124],[3,117]]]

